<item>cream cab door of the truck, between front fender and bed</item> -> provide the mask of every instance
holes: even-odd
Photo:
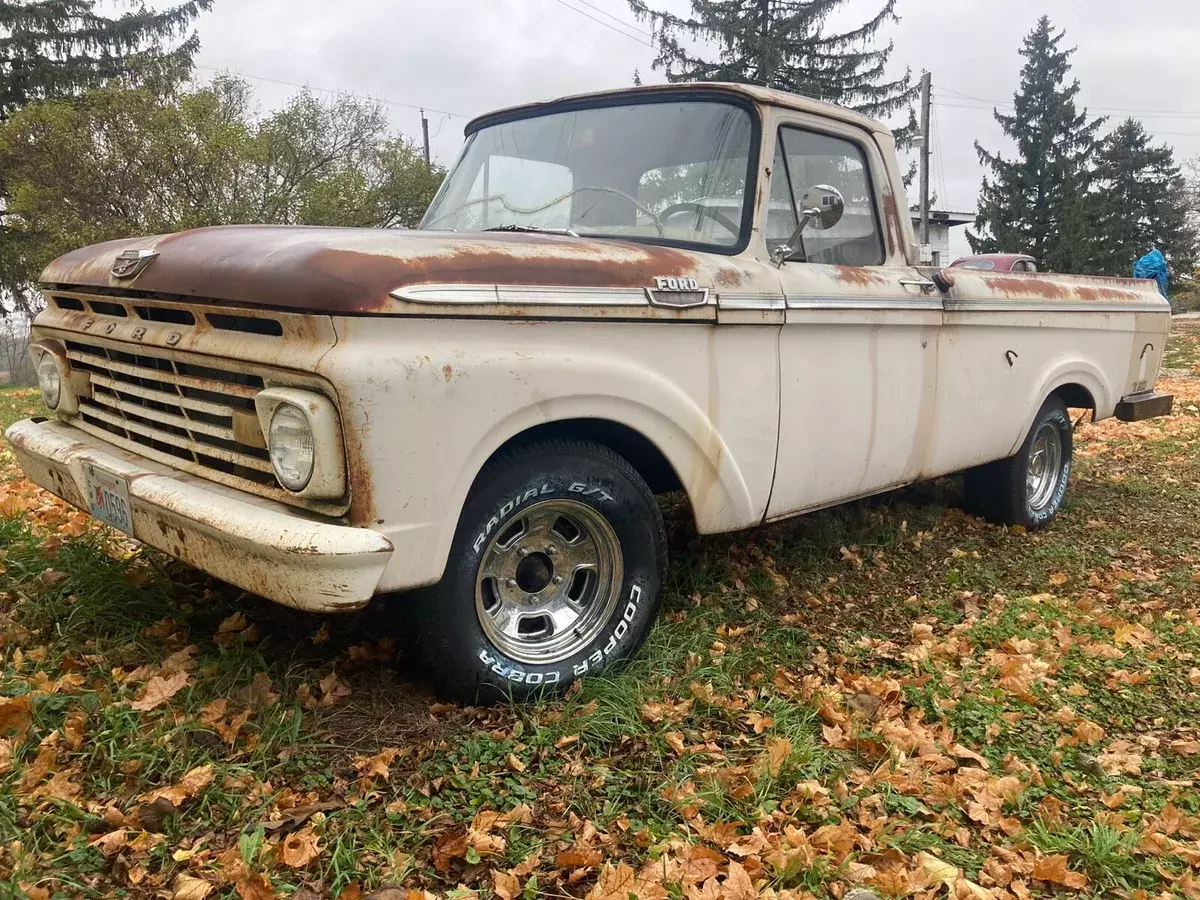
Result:
[[[818,130],[820,128],[820,130]],[[888,256],[878,185],[887,170],[852,126],[780,122],[768,247],[787,245],[805,193],[832,185],[840,222],[806,229],[780,266],[780,436],[768,509],[778,518],[917,480],[934,428],[936,287]]]

